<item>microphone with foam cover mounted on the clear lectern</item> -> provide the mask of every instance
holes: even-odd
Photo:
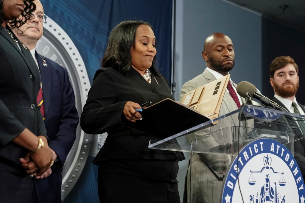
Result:
[[[286,109],[284,109],[283,107],[281,107],[277,103],[273,102],[271,99],[265,97],[263,94],[260,94],[260,91],[257,90],[257,88],[253,84],[251,84],[247,81],[240,82],[236,87],[236,91],[243,98],[246,98],[247,92],[249,92],[249,94],[253,98],[258,99],[260,101],[260,103],[262,103],[266,106],[270,106],[273,109],[287,112]]]

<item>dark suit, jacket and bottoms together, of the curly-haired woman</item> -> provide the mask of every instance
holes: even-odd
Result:
[[[31,197],[32,180],[25,174],[19,158],[27,155],[28,150],[13,144],[12,140],[25,128],[35,135],[44,136],[46,130],[41,112],[36,108],[40,86],[39,71],[29,50],[20,41],[19,45],[21,51],[0,26],[0,164],[5,163],[0,168],[0,196],[10,197],[9,201],[12,202],[20,199],[27,202],[28,193]],[[9,169],[3,170],[3,167]],[[10,186],[10,182],[13,186]],[[20,182],[23,183],[22,186]],[[25,193],[17,195],[14,193],[16,190]],[[6,202],[2,198],[0,201]]]

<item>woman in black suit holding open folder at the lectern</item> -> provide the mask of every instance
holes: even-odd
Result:
[[[148,149],[149,140],[160,137],[137,130],[144,122],[135,110],[140,104],[174,100],[156,71],[156,52],[149,23],[124,21],[112,30],[93,78],[81,127],[88,134],[108,133],[93,160],[101,202],[180,202],[176,176],[183,154]]]

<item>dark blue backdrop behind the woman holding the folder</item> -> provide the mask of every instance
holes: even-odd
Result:
[[[111,30],[124,20],[149,22],[157,42],[160,72],[171,83],[172,0],[41,0],[45,14],[69,35],[85,63],[90,83],[107,47]],[[47,26],[47,24],[45,25]],[[77,144],[77,143],[75,143]],[[95,146],[91,144],[91,146]],[[69,202],[99,202],[98,167],[86,165],[72,191],[64,199]],[[120,195],[120,191],[118,191]]]

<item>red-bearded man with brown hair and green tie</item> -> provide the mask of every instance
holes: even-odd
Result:
[[[272,99],[278,105],[285,108],[291,113],[305,115],[305,108],[296,101],[296,91],[299,88],[299,68],[290,56],[276,57],[270,67],[270,84],[274,90],[274,98]],[[293,122],[293,121],[292,121]],[[305,176],[305,128],[304,121],[298,121],[296,126],[300,126],[294,130],[294,158],[300,167],[303,177]]]

